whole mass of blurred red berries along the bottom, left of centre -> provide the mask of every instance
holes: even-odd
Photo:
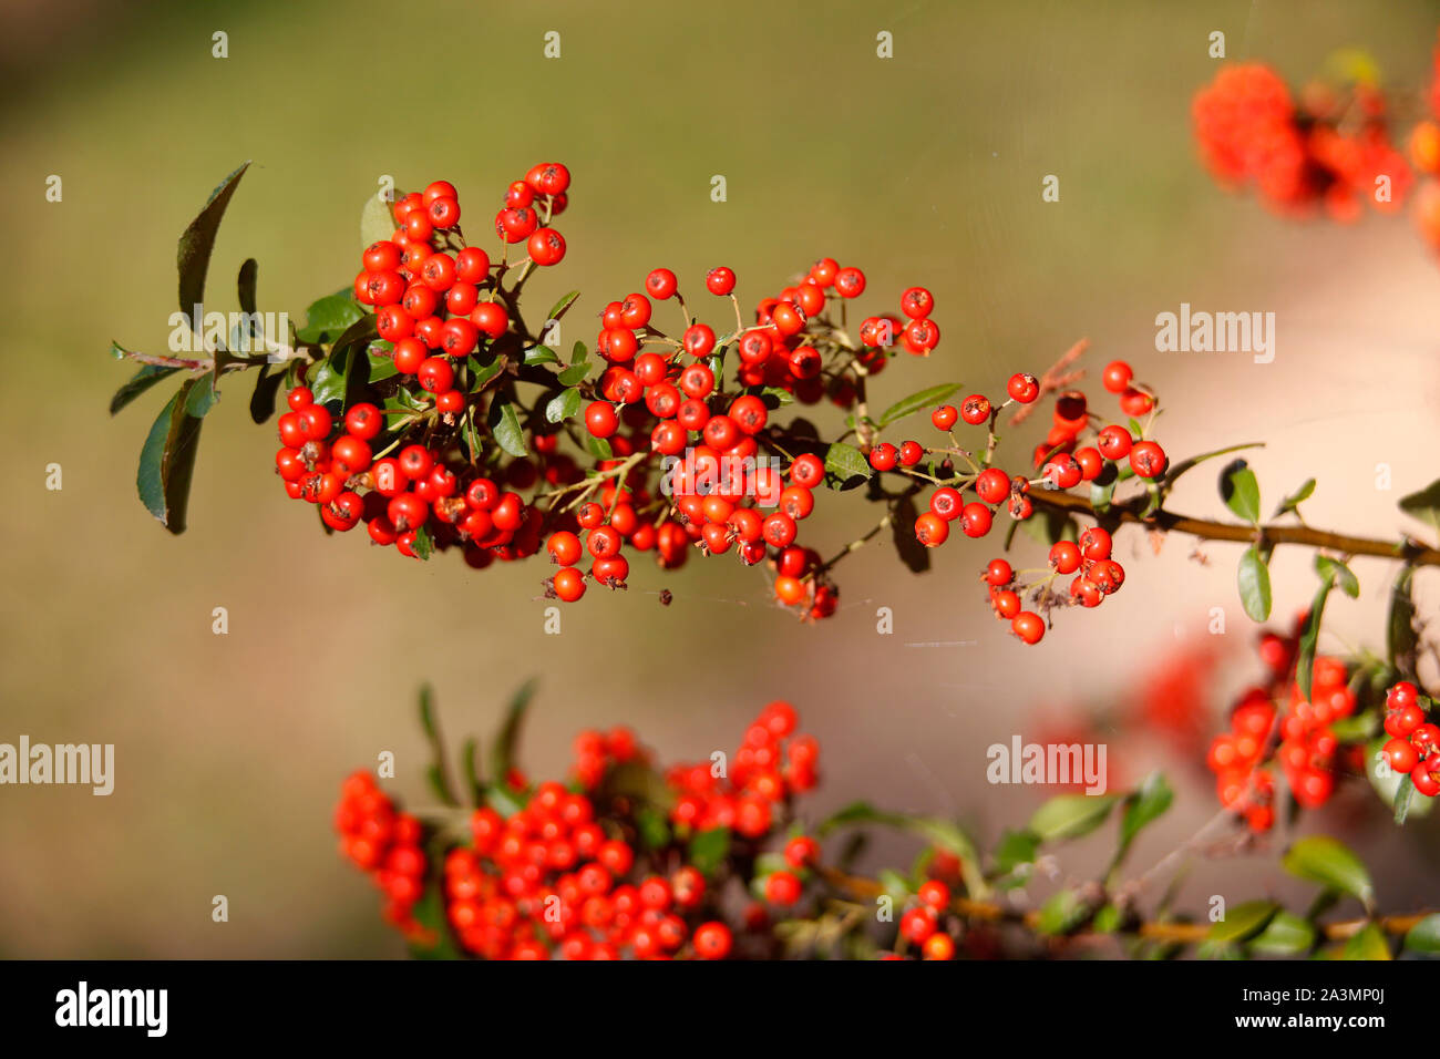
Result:
[[[636,804],[611,784],[621,767],[648,767],[648,752],[624,728],[582,732],[572,785],[541,782],[508,817],[488,804],[474,810],[469,841],[445,853],[441,877],[432,882],[444,895],[454,938],[488,960],[724,958],[736,944],[721,918],[721,889],[732,875],[724,869],[707,880],[685,863],[687,847],[678,840],[730,828],[736,859],[756,862],[762,844],[788,824],[791,795],[815,784],[818,746],[795,735],[795,725],[789,703],[769,703],[746,730],[723,782],[713,778],[711,764],[670,769],[677,841],[665,849],[641,837]],[[510,782],[524,784],[524,777],[511,774]],[[361,772],[343,787],[336,827],[344,854],[376,872],[390,896],[392,921],[419,931],[410,916],[426,885],[419,823],[396,813]],[[818,856],[814,839],[792,833],[785,866],[756,869],[752,889],[769,905],[789,908]],[[759,935],[770,924],[765,905],[750,903],[742,922],[736,929],[763,942]]]

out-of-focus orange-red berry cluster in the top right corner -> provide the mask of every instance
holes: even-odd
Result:
[[[1254,184],[1282,213],[1354,220],[1369,202],[1400,207],[1413,180],[1390,143],[1387,101],[1367,84],[1310,85],[1299,102],[1269,66],[1225,66],[1194,99],[1201,154],[1218,180]],[[1377,195],[1378,179],[1385,195]]]

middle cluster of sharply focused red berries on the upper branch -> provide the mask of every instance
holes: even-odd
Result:
[[[834,614],[838,589],[825,576],[818,553],[795,543],[798,523],[815,510],[814,490],[825,481],[825,463],[802,452],[782,473],[779,458],[765,460],[763,451],[775,451],[766,434],[769,405],[757,393],[726,396],[713,357],[733,347],[742,388],[770,386],[793,393],[801,403],[818,402],[825,395],[821,372],[827,356],[845,352],[844,336],[821,314],[831,300],[863,294],[865,275],[822,258],[798,284],[763,298],[749,327],[739,318],[734,285],[736,275],[726,267],[706,277],[710,294],[729,297],[736,305],[737,327],[723,337],[690,314],[668,268],[652,269],[644,292],[612,301],[602,311],[596,350],[609,366],[596,383],[596,399],[585,409],[585,426],[616,457],[600,464],[602,473],[625,465],[635,454],[674,458],[664,483],[668,510],[658,523],[636,513],[665,506],[657,504],[641,468],[622,486],[606,483],[600,503],[580,507],[576,527],[563,526],[549,537],[552,559],[562,566],[549,582],[554,596],[575,601],[585,595],[586,579],[576,565],[586,552],[596,563],[624,563],[624,545],[654,548],[661,566],[675,568],[694,546],[704,555],[733,549],[746,566],[769,558],[775,598],[782,605],[809,620]],[[680,339],[652,326],[655,303],[668,300],[684,313]],[[850,350],[871,375],[886,363],[897,330],[900,344],[916,354],[929,353],[939,341],[939,329],[929,318],[935,305],[930,292],[912,287],[900,303],[909,326],[887,318],[881,327],[880,318],[870,317],[860,329],[863,349]],[[647,344],[664,352],[647,350]],[[848,406],[855,389],[841,380],[829,396]],[[586,532],[583,548],[576,529]],[[592,576],[600,584],[613,581],[609,569],[592,568]]]

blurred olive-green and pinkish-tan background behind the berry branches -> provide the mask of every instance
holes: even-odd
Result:
[[[825,746],[815,811],[871,797],[959,814],[994,839],[1043,792],[988,787],[984,748],[1037,712],[1130,693],[1217,605],[1237,664],[1208,709],[1253,676],[1234,552],[1204,549],[1202,566],[1181,540],[1031,653],[971,588],[994,548],[965,543],[923,578],[887,545],[854,556],[842,609],[818,628],[726,562],[671,578],[636,563],[629,594],[592,592],[547,637],[536,563],[420,566],[318,533],[278,488],[272,431],[249,424],[240,382],[206,422],[190,530],[171,537],[134,487],[164,398],[108,419],[128,367],[105,350],[163,349],[176,236],[242,160],[255,164],[220,231],[207,308],[235,308],[235,271],[256,256],[261,308],[298,323],[353,277],[360,206],[384,174],[449,179],[484,210],[534,161],[562,160],[570,249],[534,300],[583,291],[567,341],[589,341],[590,316],[655,265],[698,291],[727,264],[753,303],[832,255],[865,269],[867,311],[893,310],[914,282],[936,295],[936,356],[894,365],[877,405],[948,379],[994,392],[1089,336],[1092,367],[1125,356],[1171,399],[1159,437],[1172,452],[1266,438],[1253,465],[1269,499],[1316,474],[1313,522],[1392,535],[1394,500],[1434,477],[1440,274],[1405,220],[1289,225],[1220,192],[1195,163],[1188,108],[1217,68],[1212,30],[1230,58],[1292,79],[1358,46],[1418,86],[1437,16],[1431,3],[1313,0],[4,6],[0,192],[16,252],[0,422],[16,506],[0,555],[0,741],[114,742],[117,787],[0,790],[0,954],[397,954],[377,895],[336,856],[330,813],[340,778],[382,749],[399,755],[397,790],[425,797],[423,679],[449,732],[488,735],[508,690],[541,674],[533,775],[564,767],[580,726],[626,722],[664,759],[697,759],[791,697]],[[212,58],[217,30],[226,59]],[[543,58],[549,30],[559,59]],[[881,30],[893,59],[876,58]],[[60,203],[45,200],[50,174]],[[710,200],[713,174],[724,203]],[[1047,174],[1058,203],[1041,202]],[[1276,363],[1155,353],[1153,317],[1181,301],[1277,311]],[[719,320],[726,310],[716,303]],[[1380,461],[1397,491],[1377,490]],[[43,488],[50,463],[59,493]],[[1211,480],[1195,478],[1176,507],[1217,514]],[[814,540],[828,550],[870,520],[854,497],[828,501]],[[1148,555],[1132,536],[1126,555]],[[1277,558],[1277,615],[1305,605],[1308,562]],[[1367,591],[1335,605],[1336,633],[1374,645],[1387,571],[1356,571]],[[1431,612],[1433,589],[1423,579]],[[880,605],[896,635],[876,635]],[[212,634],[215,607],[229,635]],[[1130,736],[1125,755],[1132,778],[1181,769],[1179,807],[1140,864],[1207,818],[1214,794],[1153,741]],[[1367,813],[1367,797],[1341,800],[1329,824],[1384,864],[1381,902],[1433,901],[1434,831],[1395,834]],[[1261,857],[1202,866],[1185,896],[1296,886]],[[229,924],[210,921],[217,893]]]

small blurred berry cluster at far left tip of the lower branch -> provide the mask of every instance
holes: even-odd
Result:
[[[364,869],[386,896],[384,915],[408,937],[425,928],[415,921],[415,903],[425,893],[425,852],[420,821],[397,813],[369,772],[356,772],[340,788],[336,807],[340,852]]]

